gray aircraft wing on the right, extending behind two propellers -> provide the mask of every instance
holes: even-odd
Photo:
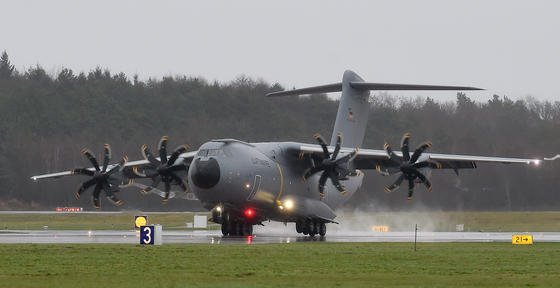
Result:
[[[334,147],[328,147],[330,153],[334,151]],[[302,144],[300,145],[300,153],[322,155],[322,148],[319,145]],[[341,155],[348,154],[354,151],[350,148],[342,148]],[[395,151],[397,156],[402,157],[401,152]],[[507,158],[507,157],[489,157],[489,156],[472,156],[472,155],[457,155],[457,154],[438,154],[438,153],[424,153],[424,161],[431,161],[437,165],[438,169],[473,169],[477,167],[477,163],[501,163],[501,164],[525,164],[525,165],[539,165],[542,161],[552,161],[560,157],[552,158]],[[359,149],[354,158],[354,168],[360,170],[391,168],[398,167],[398,164],[390,160],[385,150],[373,149]]]

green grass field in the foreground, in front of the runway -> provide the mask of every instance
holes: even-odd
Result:
[[[559,287],[560,243],[0,246],[1,287]]]

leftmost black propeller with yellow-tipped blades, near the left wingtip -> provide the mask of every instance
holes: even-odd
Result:
[[[122,171],[124,165],[128,161],[128,157],[125,155],[122,160],[117,163],[115,166],[111,167],[111,169],[107,170],[109,167],[109,161],[111,160],[111,147],[109,144],[105,144],[103,146],[103,166],[99,167],[99,163],[93,153],[87,148],[82,150],[82,154],[88,158],[89,162],[93,165],[94,169],[91,168],[76,168],[72,171],[73,174],[79,175],[86,175],[90,176],[91,178],[85,182],[83,182],[78,191],[75,193],[76,199],[80,199],[82,193],[88,190],[91,187],[93,188],[93,206],[97,209],[101,207],[99,201],[99,194],[101,191],[105,192],[107,199],[111,201],[116,206],[121,206],[124,202],[119,200],[115,193],[119,191],[119,184],[121,182],[120,177],[118,177],[115,173]]]

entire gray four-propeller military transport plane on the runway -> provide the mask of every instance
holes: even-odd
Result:
[[[91,177],[76,197],[90,187],[93,203],[99,208],[99,195],[116,205],[121,182],[129,179],[152,179],[151,185],[138,184],[143,192],[156,193],[164,201],[175,194],[172,185],[192,191],[205,208],[212,211],[212,221],[221,224],[224,235],[251,235],[253,225],[265,220],[295,222],[298,233],[325,235],[326,224],[335,222],[335,209],[346,202],[362,185],[362,170],[375,169],[383,175],[398,175],[386,187],[392,192],[406,181],[411,199],[416,184],[432,189],[429,180],[434,169],[476,168],[477,163],[512,163],[539,165],[541,159],[482,157],[425,153],[430,142],[409,148],[410,133],[404,134],[400,151],[388,143],[384,150],[360,149],[364,140],[369,112],[370,90],[482,90],[462,86],[430,86],[364,82],[356,73],[346,71],[342,82],[311,88],[270,93],[267,96],[289,96],[342,92],[330,145],[321,135],[316,144],[296,142],[246,143],[235,139],[217,139],[187,152],[179,146],[169,156],[167,137],[158,144],[154,156],[147,145],[141,151],[144,160],[127,162],[126,156],[109,164],[111,150],[104,147],[100,167],[92,152],[84,149],[91,168],[31,177],[33,180],[80,174]],[[411,153],[412,152],[412,153]],[[158,185],[163,182],[163,191]],[[176,196],[175,196],[176,197]]]

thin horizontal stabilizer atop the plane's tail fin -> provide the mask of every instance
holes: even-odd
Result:
[[[468,86],[441,86],[441,85],[416,85],[416,84],[392,84],[392,83],[367,83],[367,82],[349,82],[350,87],[356,90],[484,90],[482,88]],[[301,89],[292,89],[268,93],[266,96],[291,96],[291,95],[308,95],[342,91],[342,83],[334,83],[323,86],[315,86]]]

